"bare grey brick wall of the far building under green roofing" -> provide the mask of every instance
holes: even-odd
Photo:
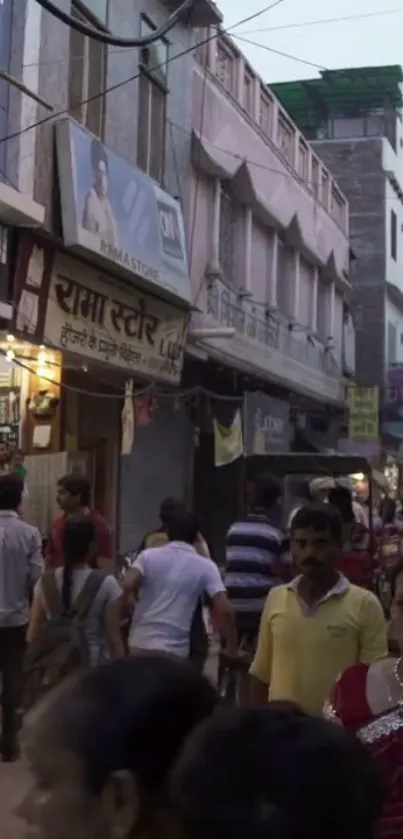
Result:
[[[350,204],[350,239],[356,257],[351,275],[356,378],[363,386],[382,385],[386,280],[382,140],[318,141],[312,145]]]

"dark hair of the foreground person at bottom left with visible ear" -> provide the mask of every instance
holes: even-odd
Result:
[[[46,709],[43,724],[78,756],[90,793],[127,771],[156,798],[186,736],[216,702],[208,679],[186,662],[144,653],[88,671]]]

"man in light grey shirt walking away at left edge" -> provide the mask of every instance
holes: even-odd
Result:
[[[29,598],[43,572],[42,539],[18,515],[23,483],[0,476],[0,672],[3,677],[3,761],[15,759]]]

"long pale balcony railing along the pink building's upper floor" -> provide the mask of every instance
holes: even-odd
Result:
[[[276,313],[253,300],[239,301],[236,290],[215,279],[205,290],[203,313],[194,316],[197,327],[232,327],[235,337],[209,339],[203,345],[210,356],[234,360],[245,372],[264,375],[284,387],[328,403],[344,402],[344,379],[331,351],[312,345],[306,334],[293,335]]]

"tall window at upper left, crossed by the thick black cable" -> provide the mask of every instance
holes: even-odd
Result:
[[[74,5],[71,14],[81,23],[90,23]],[[106,46],[70,29],[69,113],[97,137],[103,133],[105,69]]]

